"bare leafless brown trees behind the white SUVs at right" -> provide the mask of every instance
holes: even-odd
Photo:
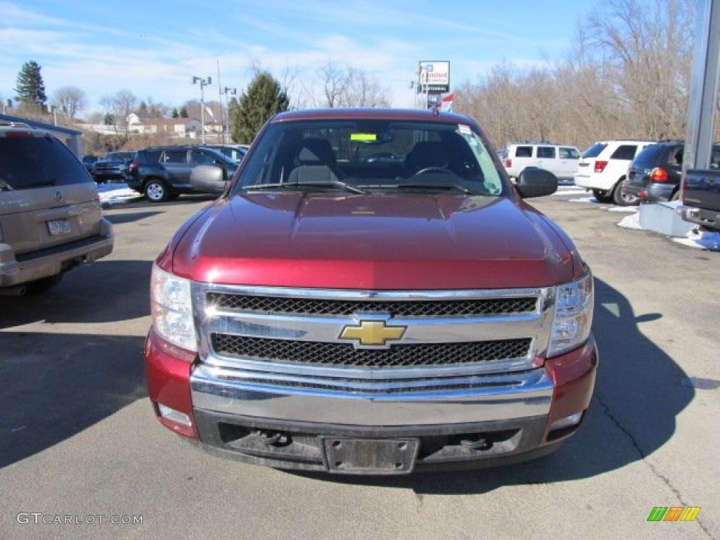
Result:
[[[578,23],[564,58],[534,68],[500,63],[456,89],[455,109],[498,147],[683,139],[695,10],[692,0],[603,1]]]

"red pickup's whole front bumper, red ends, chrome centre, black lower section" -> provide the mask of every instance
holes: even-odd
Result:
[[[176,358],[153,330],[145,351],[148,393],[156,413],[161,403],[186,413],[192,422],[184,428],[161,418],[168,428],[214,454],[317,471],[328,470],[322,444],[328,436],[418,438],[416,469],[487,467],[547,454],[585,420],[598,364],[591,337],[543,367],[488,376],[495,382],[486,386],[341,394],[219,382],[218,373],[207,372],[208,366]],[[551,429],[572,415],[580,415],[580,423]],[[485,444],[467,444],[477,440]]]

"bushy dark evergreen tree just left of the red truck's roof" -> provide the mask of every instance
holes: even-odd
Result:
[[[258,71],[240,96],[238,107],[232,107],[230,136],[235,143],[252,143],[269,117],[287,111],[290,100],[280,83],[266,71]]]

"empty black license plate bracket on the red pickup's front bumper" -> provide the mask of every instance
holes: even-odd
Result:
[[[420,448],[418,438],[321,439],[325,466],[339,474],[408,474]]]

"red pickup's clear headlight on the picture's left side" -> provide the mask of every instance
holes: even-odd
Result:
[[[168,274],[153,264],[150,303],[156,332],[173,345],[197,351],[189,279]]]

